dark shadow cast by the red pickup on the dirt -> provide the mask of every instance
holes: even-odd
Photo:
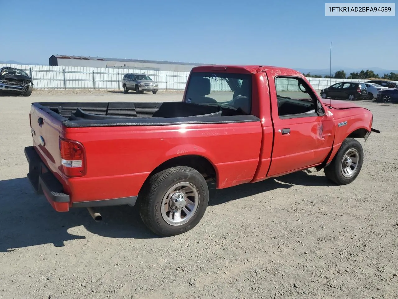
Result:
[[[254,184],[213,190],[209,205],[242,199],[251,195],[294,185],[326,186],[326,177],[300,171]],[[158,238],[142,223],[136,207],[103,207],[96,209],[104,221],[94,222],[86,209],[56,212],[45,197],[33,193],[26,178],[0,181],[0,252],[41,244],[64,246],[64,241],[85,239],[68,232],[84,226],[89,232],[110,238]]]

